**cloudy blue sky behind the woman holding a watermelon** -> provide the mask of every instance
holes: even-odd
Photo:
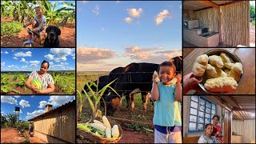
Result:
[[[1,71],[39,70],[43,60],[49,70],[75,70],[74,48],[1,48]]]

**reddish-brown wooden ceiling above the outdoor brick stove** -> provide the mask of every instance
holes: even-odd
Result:
[[[218,6],[232,1],[183,1],[183,10],[202,10]]]

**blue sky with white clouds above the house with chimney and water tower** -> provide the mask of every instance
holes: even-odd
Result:
[[[45,112],[45,106],[50,103],[55,109],[74,100],[74,96],[1,96],[1,114],[14,114],[15,106],[20,107],[19,119],[27,121]]]

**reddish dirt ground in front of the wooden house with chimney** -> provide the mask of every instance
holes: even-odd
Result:
[[[28,133],[27,130],[24,131],[24,133]],[[30,143],[45,143],[42,142],[37,137],[30,137],[29,138]],[[26,142],[26,138],[22,137],[21,135],[18,135],[18,132],[15,128],[9,127],[9,128],[1,128],[1,143],[24,143]]]

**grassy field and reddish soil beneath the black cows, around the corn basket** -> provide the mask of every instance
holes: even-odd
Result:
[[[102,75],[107,75],[109,72],[81,72],[77,74],[77,106],[81,100],[86,97],[86,94],[81,94],[82,87],[85,82],[94,82]],[[81,95],[80,95],[81,94]],[[94,103],[94,98],[91,98]],[[113,118],[122,126],[123,136],[120,142],[154,142],[153,116],[154,105],[152,102],[147,103],[147,111],[144,111],[141,94],[136,94],[134,100],[135,110],[132,111],[130,107],[126,107],[126,98],[122,97],[122,107],[116,111],[112,117],[106,115],[108,118]],[[98,106],[98,109],[104,114],[104,109]],[[82,104],[82,111],[79,114],[78,121],[86,122],[92,118],[93,111],[89,101]],[[150,125],[150,126],[149,126]],[[138,136],[138,138],[137,138]],[[134,138],[133,140],[129,140]],[[142,139],[144,139],[142,141]]]

